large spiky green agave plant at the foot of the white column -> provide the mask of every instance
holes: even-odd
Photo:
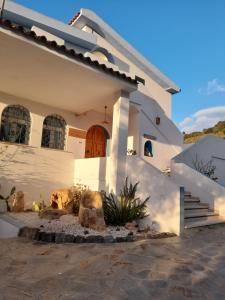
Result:
[[[118,199],[111,193],[103,193],[104,218],[107,225],[124,226],[127,222],[147,217],[147,202],[150,197],[141,201],[136,197],[138,182],[134,185],[125,180]]]

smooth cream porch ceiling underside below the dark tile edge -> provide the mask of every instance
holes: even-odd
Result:
[[[132,79],[23,30],[0,26],[1,92],[80,114],[110,111],[122,90],[137,89]]]

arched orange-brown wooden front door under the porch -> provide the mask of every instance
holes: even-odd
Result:
[[[105,128],[92,126],[86,135],[85,157],[105,157],[108,133]]]

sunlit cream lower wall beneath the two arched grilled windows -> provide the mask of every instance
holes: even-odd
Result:
[[[0,172],[1,193],[7,195],[16,186],[30,206],[40,195],[47,201],[54,189],[73,185],[73,157],[63,151],[8,145],[1,155]]]

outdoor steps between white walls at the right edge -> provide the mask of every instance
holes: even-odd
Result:
[[[225,218],[210,209],[207,203],[200,202],[190,192],[184,193],[184,227],[193,228],[217,223],[225,223]]]

